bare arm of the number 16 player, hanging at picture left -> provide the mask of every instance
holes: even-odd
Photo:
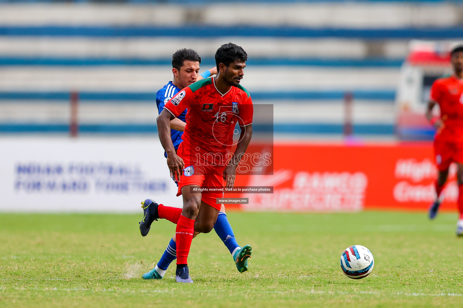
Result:
[[[170,177],[175,177],[175,179],[180,182],[180,175],[183,168],[185,168],[185,163],[183,163],[183,159],[175,153],[174,144],[170,138],[170,121],[173,119],[174,115],[166,109],[163,109],[161,114],[157,117],[156,123],[159,140],[161,140],[161,144],[167,153],[167,165],[169,166]]]

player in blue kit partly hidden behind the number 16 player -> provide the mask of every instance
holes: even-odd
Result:
[[[177,92],[181,91],[188,85],[193,84],[197,80],[208,78],[211,75],[217,73],[217,68],[213,67],[199,75],[198,73],[200,70],[200,63],[201,57],[193,49],[183,48],[177,50],[175,54],[172,55],[172,73],[174,74],[174,79],[169,81],[167,85],[164,85],[161,90],[157,91],[156,105],[159,113],[163,111],[164,104],[167,103],[172,97],[174,97]],[[178,149],[178,146],[182,141],[181,135],[183,134],[183,130],[186,124],[186,114],[187,110],[185,109],[185,111],[183,111],[180,116],[170,121],[170,135],[172,138],[172,143],[174,144],[175,151]],[[164,152],[164,156],[167,157],[166,152]],[[148,234],[151,223],[157,218],[157,207],[158,204],[151,199],[146,199],[142,202],[142,208],[144,210],[144,219],[140,222],[140,233],[142,236],[146,236]],[[214,230],[232,254],[238,272],[246,272],[248,270],[247,259],[250,258],[252,250],[249,245],[244,247],[240,247],[238,245],[233,234],[232,226],[228,222],[227,216],[225,214],[225,206],[223,204],[221,206],[219,216],[217,217],[217,221],[214,224]],[[195,232],[194,235],[196,236],[197,233]],[[149,272],[144,273],[142,277],[144,279],[162,279],[168,266],[175,259],[176,243],[174,236],[170,240],[169,245],[164,251],[161,259],[157,262],[155,268]]]

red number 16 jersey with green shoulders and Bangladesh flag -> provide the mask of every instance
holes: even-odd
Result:
[[[184,88],[164,105],[175,117],[188,109],[186,126],[178,155],[200,158],[211,165],[225,165],[226,155],[233,144],[236,123],[252,124],[252,100],[241,85],[231,87],[225,94],[214,85],[213,78],[202,79]],[[230,158],[230,157],[229,157]]]

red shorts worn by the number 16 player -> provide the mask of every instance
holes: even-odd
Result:
[[[180,175],[177,196],[181,195],[181,188],[187,185],[198,185],[200,187],[224,187],[223,170],[224,166],[198,166],[185,162],[185,169]],[[217,204],[216,198],[223,198],[223,192],[202,192],[201,201],[220,211],[221,204]]]

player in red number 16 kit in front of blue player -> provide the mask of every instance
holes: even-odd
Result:
[[[225,187],[233,187],[236,168],[252,136],[252,100],[239,84],[247,54],[243,48],[228,43],[217,50],[215,60],[217,76],[178,92],[157,118],[170,175],[179,183],[177,195],[183,197],[183,209],[175,230],[178,282],[193,282],[187,258],[194,231],[210,232],[220,210],[216,198],[223,197],[223,192],[200,193],[200,187],[224,187],[224,181]],[[187,108],[187,124],[177,155],[169,134],[170,121]],[[237,122],[241,134],[235,152],[230,153]],[[156,216],[166,219],[172,217],[171,212],[178,211],[161,205],[156,210]]]

